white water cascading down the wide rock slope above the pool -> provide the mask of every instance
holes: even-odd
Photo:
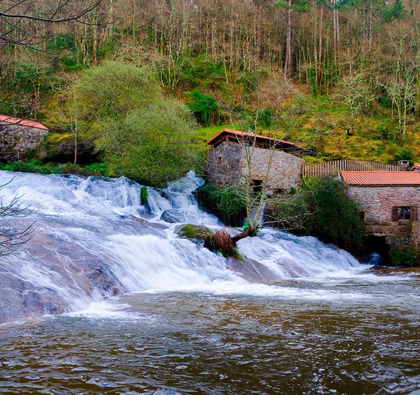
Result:
[[[15,223],[37,221],[35,235],[23,246],[20,259],[4,261],[1,270],[3,282],[18,295],[13,303],[24,305],[22,311],[77,311],[104,297],[132,291],[283,296],[301,292],[267,285],[267,281],[251,283],[230,270],[222,256],[177,237],[177,224],[160,219],[170,215],[179,223],[221,228],[220,221],[202,211],[191,194],[203,184],[193,172],[165,190],[148,188],[147,207],[140,203],[141,186],[124,177],[0,171],[1,184],[12,178],[2,189],[3,202],[17,194],[24,205],[34,209],[30,219]],[[349,253],[314,237],[270,229],[238,245],[243,254],[267,268],[273,281],[328,276],[362,267]],[[1,314],[21,314],[16,306],[10,309],[0,306],[0,320]]]

